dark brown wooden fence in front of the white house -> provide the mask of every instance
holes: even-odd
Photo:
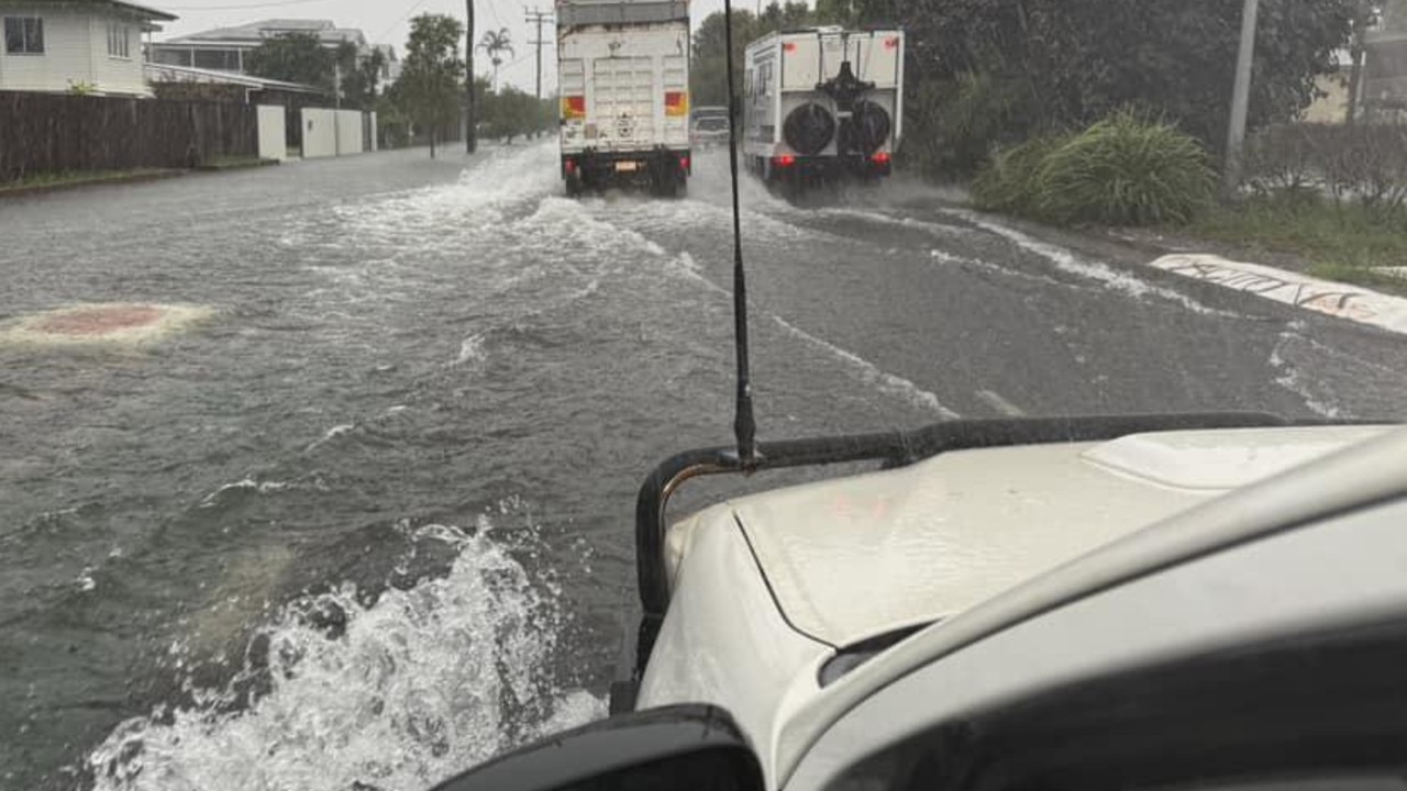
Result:
[[[0,183],[257,153],[257,108],[249,104],[0,91]]]

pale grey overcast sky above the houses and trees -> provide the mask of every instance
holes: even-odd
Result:
[[[416,14],[453,14],[464,18],[464,0],[139,0],[144,4],[169,11],[180,18],[165,25],[156,34],[156,41],[173,35],[200,32],[215,27],[239,25],[267,18],[311,18],[332,20],[338,27],[360,28],[371,44],[391,44],[397,52],[404,52],[405,37],[409,34],[409,18]],[[734,0],[739,8],[753,8],[757,0]],[[514,42],[514,55],[499,68],[499,80],[525,90],[533,90],[536,79],[535,48],[528,42],[536,37],[535,25],[525,21],[521,0],[474,0],[476,27],[483,37],[485,30],[505,27]],[[532,6],[529,1],[526,6]],[[553,0],[537,0],[536,6],[550,11]],[[722,10],[723,0],[694,0],[695,24],[708,14]],[[543,25],[543,38],[552,41],[552,28]],[[556,80],[554,48],[543,46],[543,90],[550,91]],[[481,53],[474,63],[480,73],[490,72],[488,61]]]

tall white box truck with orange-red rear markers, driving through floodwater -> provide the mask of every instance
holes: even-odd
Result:
[[[568,194],[691,173],[688,0],[559,0],[561,177]]]

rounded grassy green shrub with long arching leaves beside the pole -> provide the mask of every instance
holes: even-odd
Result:
[[[1058,222],[1185,224],[1216,194],[1200,142],[1130,110],[1052,151],[1037,180],[1037,213]]]

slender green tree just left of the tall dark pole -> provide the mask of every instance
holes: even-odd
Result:
[[[395,100],[411,121],[429,131],[431,158],[440,127],[459,118],[460,75],[459,39],[464,27],[454,17],[421,14],[411,21],[401,79]]]

